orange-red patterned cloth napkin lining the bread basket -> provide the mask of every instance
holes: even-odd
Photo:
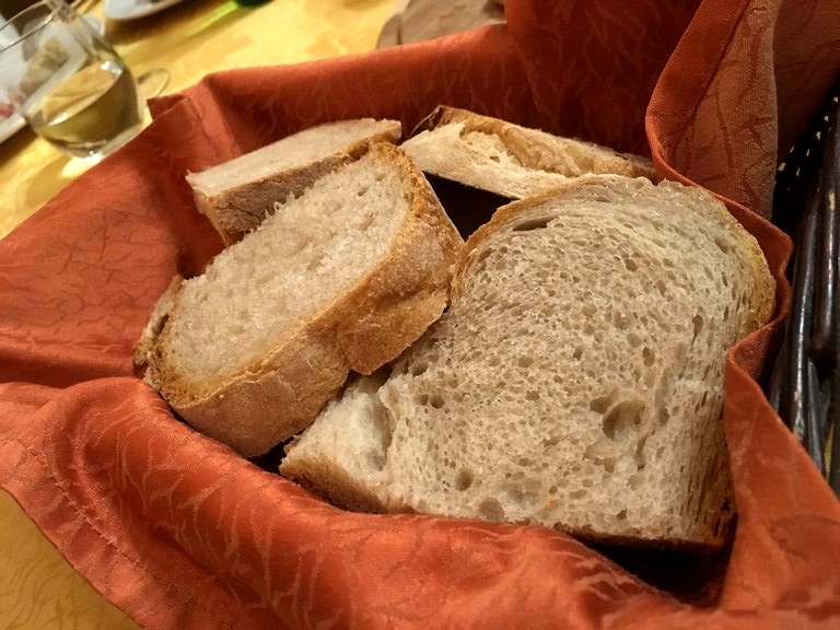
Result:
[[[840,70],[835,0],[509,0],[508,26],[208,77],[0,242],[0,485],[150,628],[837,628],[840,504],[756,377],[790,241],[777,155]],[[720,194],[779,281],[735,347],[734,545],[595,550],[540,527],[331,508],[178,422],[133,372],[149,310],[221,243],[184,175],[324,120],[445,103],[620,150]],[[780,145],[781,142],[781,145]]]

